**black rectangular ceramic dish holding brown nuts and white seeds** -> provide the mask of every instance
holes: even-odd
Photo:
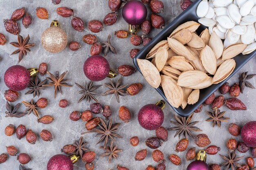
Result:
[[[186,9],[184,12],[182,12],[173,22],[166,25],[165,28],[153,38],[139,53],[136,55],[136,57],[133,59],[133,63],[136,66],[136,68],[141,73],[139,66],[137,64],[137,58],[138,59],[145,59],[148,52],[160,41],[167,40],[167,37],[173,32],[174,29],[177,28],[177,26],[183,24],[187,21],[195,21],[198,22],[198,16],[196,15],[196,9],[198,7],[198,4],[201,2],[201,0],[196,0],[188,9]],[[197,30],[198,35],[207,28],[206,26],[200,26]],[[225,79],[225,81],[219,83],[219,84],[213,84],[212,86],[208,88],[204,88],[200,90],[200,97],[196,104],[193,105],[187,105],[186,108],[183,110],[181,107],[174,108],[171,106],[171,104],[167,101],[162,87],[156,88],[156,91],[166,100],[166,102],[177,112],[180,116],[186,117],[189,116],[195,109],[197,109],[212,93],[214,93],[222,84],[224,84],[230,77],[232,77],[243,65],[245,65],[252,57],[256,55],[256,51],[249,55],[242,55],[239,54],[234,58],[236,60],[236,68],[234,69],[233,73]]]

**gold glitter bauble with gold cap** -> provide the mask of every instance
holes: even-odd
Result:
[[[67,46],[67,34],[58,26],[58,21],[53,20],[41,37],[43,47],[50,53],[59,53]]]

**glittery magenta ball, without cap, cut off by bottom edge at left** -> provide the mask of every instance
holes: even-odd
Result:
[[[58,154],[51,157],[47,163],[47,170],[73,170],[74,166],[69,157]]]

